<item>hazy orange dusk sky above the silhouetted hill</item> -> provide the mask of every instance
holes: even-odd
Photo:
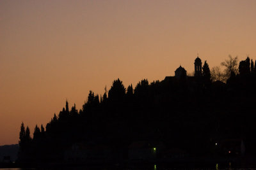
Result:
[[[0,1],[0,145],[45,125],[89,90],[163,80],[197,55],[256,59],[255,0]]]

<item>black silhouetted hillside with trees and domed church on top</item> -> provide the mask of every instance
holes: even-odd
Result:
[[[236,60],[234,67],[227,64],[230,60]],[[193,76],[180,66],[175,76],[163,81],[143,79],[125,88],[122,80],[114,80],[102,96],[90,91],[81,110],[66,101],[46,127],[36,125],[33,138],[22,123],[18,160],[124,162],[256,156],[253,60],[248,57],[238,66],[237,59],[230,57],[225,64],[227,82],[212,81],[207,61],[202,66],[196,58]],[[150,153],[144,152],[147,149]]]

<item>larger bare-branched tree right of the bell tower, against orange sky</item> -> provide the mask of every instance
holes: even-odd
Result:
[[[226,68],[224,69],[224,73],[225,73],[225,79],[227,80],[228,78],[230,78],[231,73],[238,73],[238,69],[237,69],[237,65],[238,65],[238,57],[232,57],[231,55],[228,55],[228,59],[225,60],[225,62],[221,62],[221,66],[225,66]]]

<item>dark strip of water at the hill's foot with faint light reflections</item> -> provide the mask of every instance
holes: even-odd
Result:
[[[206,158],[172,160],[126,160],[124,162],[51,162],[0,163],[0,168],[21,169],[255,169],[256,157]]]

